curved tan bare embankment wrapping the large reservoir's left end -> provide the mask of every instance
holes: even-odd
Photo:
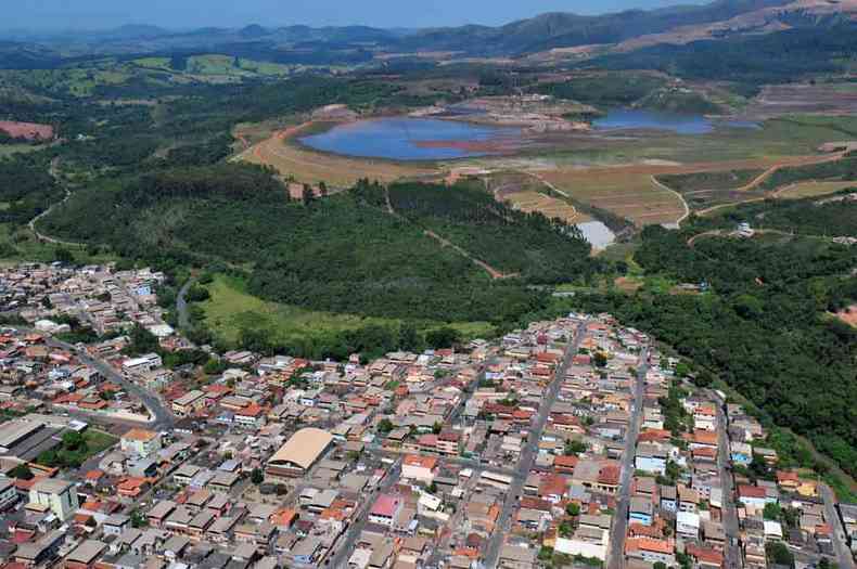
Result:
[[[302,148],[294,139],[310,124],[277,130],[267,139],[250,145],[238,155],[239,159],[271,166],[284,178],[298,182],[317,184],[324,182],[332,187],[351,186],[361,178],[392,182],[413,176],[438,173],[436,168],[418,165],[397,164],[388,160],[355,159],[332,154],[323,154]],[[239,140],[253,138],[236,132]]]

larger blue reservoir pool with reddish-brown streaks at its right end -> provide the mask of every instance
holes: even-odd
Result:
[[[336,125],[298,141],[323,152],[393,160],[448,160],[493,154],[478,143],[520,140],[521,130],[436,118],[379,118]],[[473,143],[475,148],[462,147]]]

